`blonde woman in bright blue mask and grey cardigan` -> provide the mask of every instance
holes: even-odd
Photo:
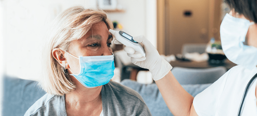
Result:
[[[47,92],[25,116],[151,115],[134,90],[110,81],[112,23],[101,10],[76,6],[60,13],[47,35],[41,87]]]

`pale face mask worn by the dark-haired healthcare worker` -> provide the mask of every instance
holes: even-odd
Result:
[[[226,14],[220,25],[221,45],[226,57],[233,63],[248,68],[257,65],[257,48],[244,45],[248,28],[253,24],[254,22],[250,23],[246,19]]]

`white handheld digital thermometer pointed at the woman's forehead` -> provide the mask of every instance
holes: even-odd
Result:
[[[115,36],[115,39],[117,39],[119,42],[128,47],[134,48],[135,51],[141,53],[145,57],[144,48],[140,43],[134,41],[132,36],[123,31],[114,31],[112,29],[110,29],[109,32],[112,33]]]

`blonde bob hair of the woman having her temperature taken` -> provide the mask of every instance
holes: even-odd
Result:
[[[82,38],[94,23],[105,22],[108,29],[113,24],[100,9],[84,9],[82,6],[71,7],[60,13],[52,22],[46,35],[47,42],[43,49],[43,77],[39,85],[49,94],[64,95],[75,89],[67,69],[64,69],[53,57],[52,51],[60,48],[69,51],[71,41]]]

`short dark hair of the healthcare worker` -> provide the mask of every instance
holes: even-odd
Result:
[[[231,9],[257,23],[257,0],[225,0]]]

